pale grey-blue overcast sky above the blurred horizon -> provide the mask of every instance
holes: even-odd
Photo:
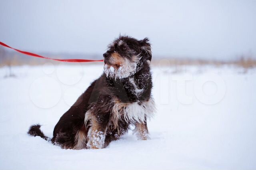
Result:
[[[256,0],[0,0],[0,41],[33,52],[101,54],[120,34],[153,55],[256,55]]]

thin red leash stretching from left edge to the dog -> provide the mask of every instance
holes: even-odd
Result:
[[[26,55],[30,55],[30,56],[33,56],[33,57],[39,57],[39,58],[44,58],[44,59],[51,59],[51,60],[55,60],[55,61],[62,61],[62,62],[78,62],[78,63],[82,63],[82,62],[92,62],[92,61],[104,61],[103,59],[101,60],[91,60],[91,59],[54,59],[54,58],[48,58],[48,57],[44,57],[42,55],[38,55],[38,54],[34,54],[34,53],[30,53],[30,52],[27,52],[27,51],[21,51],[19,49],[15,49],[13,47],[10,47],[9,45],[6,45],[5,43],[2,43],[0,42],[0,45],[3,45],[4,47],[8,47],[8,48],[11,48],[11,49],[14,49],[20,53],[23,53],[23,54],[26,54]]]

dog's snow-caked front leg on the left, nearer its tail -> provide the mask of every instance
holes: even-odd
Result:
[[[99,149],[104,148],[104,141],[106,137],[106,130],[108,125],[108,118],[94,116],[91,119],[91,127],[88,130],[88,142],[87,148],[90,149]]]

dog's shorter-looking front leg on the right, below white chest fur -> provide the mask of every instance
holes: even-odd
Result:
[[[133,134],[136,134],[137,138],[140,140],[150,139],[148,135],[147,122],[136,122]]]

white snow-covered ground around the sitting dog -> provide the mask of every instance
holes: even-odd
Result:
[[[158,112],[151,140],[129,132],[99,150],[63,150],[48,136],[60,116],[102,73],[102,65],[0,68],[0,169],[256,169],[256,69],[153,67]]]

